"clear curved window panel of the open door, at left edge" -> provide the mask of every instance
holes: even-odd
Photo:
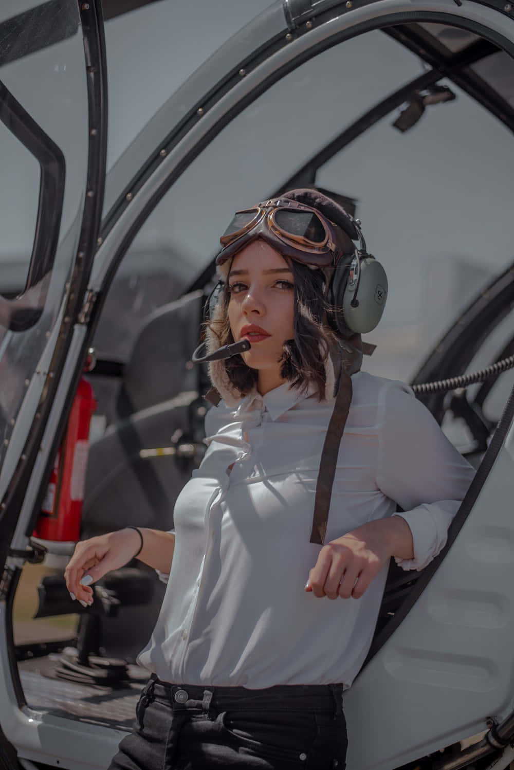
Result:
[[[74,0],[58,12],[2,4],[0,89],[0,293],[10,297],[0,297],[2,497],[52,360],[82,221],[88,97]]]

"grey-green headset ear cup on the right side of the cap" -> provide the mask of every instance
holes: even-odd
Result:
[[[370,254],[359,262],[352,259],[349,278],[342,296],[345,323],[355,333],[365,334],[378,326],[388,293],[386,270]]]

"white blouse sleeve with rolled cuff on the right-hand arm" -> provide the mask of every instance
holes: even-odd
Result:
[[[395,557],[404,570],[422,570],[446,544],[448,527],[475,470],[442,433],[404,383],[392,382],[382,401],[377,485],[403,509],[414,558]]]

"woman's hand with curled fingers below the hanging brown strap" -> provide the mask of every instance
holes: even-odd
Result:
[[[305,591],[360,599],[392,556],[414,557],[409,524],[400,516],[369,521],[322,547]]]

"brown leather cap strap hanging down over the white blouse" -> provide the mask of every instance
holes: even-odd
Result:
[[[335,397],[334,410],[330,417],[329,427],[325,435],[322,456],[319,462],[319,474],[316,484],[314,501],[314,517],[312,518],[311,543],[323,545],[326,526],[329,521],[330,497],[334,483],[335,467],[339,454],[339,444],[352,401],[352,380],[349,372],[342,370],[339,380],[339,390]]]

